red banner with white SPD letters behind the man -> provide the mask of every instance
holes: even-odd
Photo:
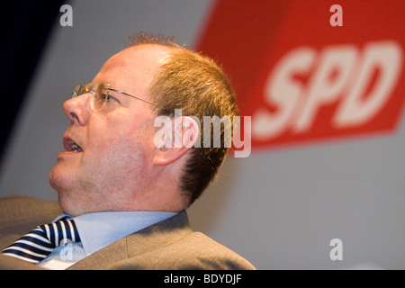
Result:
[[[197,48],[222,64],[252,148],[395,130],[405,1],[219,0]]]

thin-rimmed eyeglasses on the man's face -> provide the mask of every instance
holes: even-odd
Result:
[[[117,89],[113,89],[112,87],[110,87],[110,84],[107,82],[102,82],[102,83],[99,83],[96,85],[92,85],[92,84],[76,85],[76,88],[72,94],[72,98],[80,96],[82,94],[90,93],[91,94],[90,107],[92,108],[93,111],[99,111],[105,107],[106,103],[112,101],[113,97],[109,95],[109,91],[114,91],[114,92],[117,92],[120,94],[130,96],[132,98],[138,99],[138,100],[143,101],[148,104],[151,104],[157,108],[163,109],[166,112],[168,112],[168,110],[166,108],[161,107],[155,103],[151,103],[151,102],[143,100],[137,96],[128,94],[126,92],[122,92]]]

